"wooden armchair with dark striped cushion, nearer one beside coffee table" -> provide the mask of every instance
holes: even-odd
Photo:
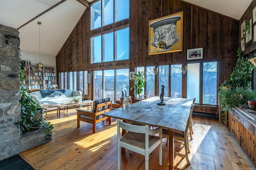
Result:
[[[111,124],[111,117],[102,115],[111,110],[112,101],[110,98],[98,99],[93,102],[92,111],[84,109],[76,109],[77,111],[77,127],[80,127],[80,121],[92,123],[92,132],[96,133],[96,123],[108,119],[108,124]]]

